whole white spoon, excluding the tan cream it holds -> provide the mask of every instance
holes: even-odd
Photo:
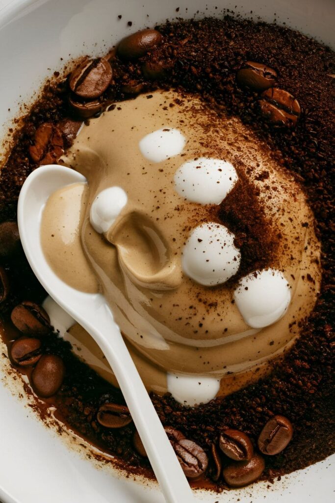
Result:
[[[42,251],[41,219],[49,196],[61,187],[85,181],[79,173],[58,165],[42,166],[31,173],[19,197],[21,242],[45,290],[87,330],[113,368],[167,503],[191,503],[190,486],[103,295],[68,286],[52,271]]]

